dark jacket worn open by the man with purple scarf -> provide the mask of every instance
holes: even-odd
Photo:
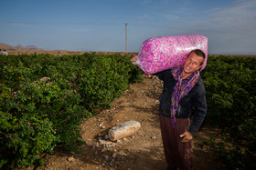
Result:
[[[176,79],[172,75],[171,70],[165,70],[155,75],[164,81],[163,93],[159,98],[161,114],[171,117],[170,101],[176,85]],[[202,125],[207,114],[207,101],[205,94],[205,85],[201,76],[199,76],[196,85],[194,85],[191,91],[181,98],[178,103],[176,119],[188,118],[193,112],[193,119],[188,129],[188,132],[192,135],[197,133],[198,128]]]

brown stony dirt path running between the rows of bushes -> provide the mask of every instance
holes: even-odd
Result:
[[[123,96],[112,102],[112,108],[81,125],[81,135],[87,145],[80,155],[56,152],[47,156],[46,166],[37,169],[164,169],[167,165],[158,120],[161,92],[161,81],[144,75],[144,81],[131,85]],[[109,145],[99,142],[112,126],[129,120],[141,123],[136,133]],[[214,161],[209,151],[198,147],[200,140],[211,134],[218,134],[218,130],[202,127],[194,139],[194,169],[225,169]]]

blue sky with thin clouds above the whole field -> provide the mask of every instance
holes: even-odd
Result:
[[[256,0],[1,1],[0,43],[138,52],[154,36],[200,34],[209,54],[256,54]]]

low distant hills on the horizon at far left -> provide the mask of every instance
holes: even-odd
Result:
[[[6,51],[45,51],[44,49],[38,48],[35,45],[6,45],[4,43],[0,43],[0,49],[5,49]]]

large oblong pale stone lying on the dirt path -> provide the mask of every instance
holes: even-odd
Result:
[[[134,132],[141,128],[141,124],[137,121],[128,121],[120,125],[113,126],[109,131],[109,139],[116,141],[123,137],[132,135]]]

